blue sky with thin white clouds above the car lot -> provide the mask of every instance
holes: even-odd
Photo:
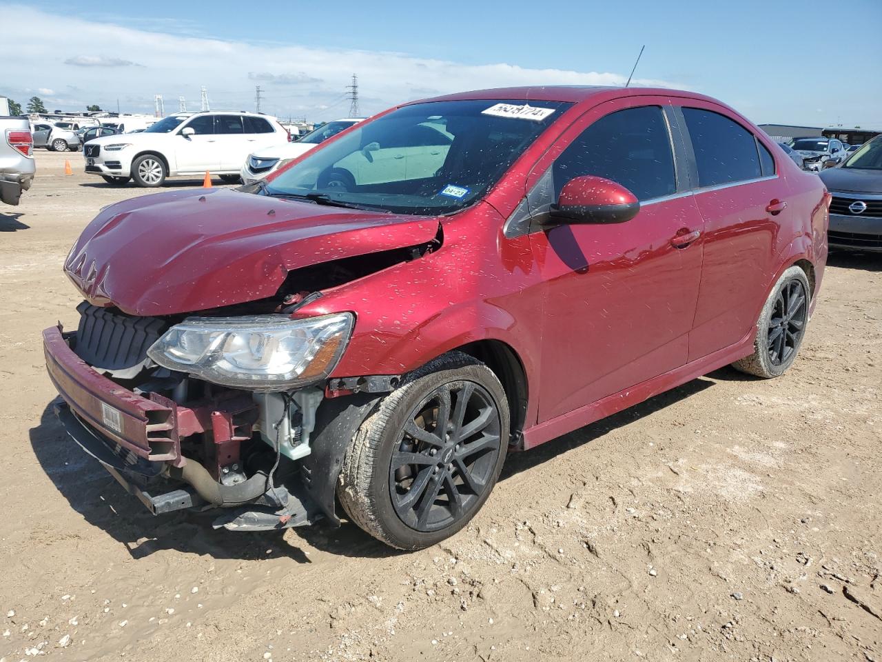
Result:
[[[75,6],[76,5],[76,6]],[[679,87],[757,124],[882,129],[882,0],[0,0],[0,95],[49,110],[261,109],[311,121],[512,85]]]

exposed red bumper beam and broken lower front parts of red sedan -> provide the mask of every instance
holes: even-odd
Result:
[[[300,481],[273,485],[260,471],[238,482],[223,480],[224,468],[239,463],[239,443],[267,425],[259,421],[251,394],[233,391],[191,407],[154,393],[146,398],[93,371],[71,350],[69,338],[58,327],[43,332],[49,377],[65,401],[56,405],[56,416],[71,439],[153,514],[223,508],[215,526],[235,530],[280,529],[321,517]],[[269,413],[266,418],[275,412]],[[289,423],[279,431],[285,440],[280,449],[309,453],[295,446]],[[181,439],[198,433],[221,451],[217,466],[206,468],[183,456]]]

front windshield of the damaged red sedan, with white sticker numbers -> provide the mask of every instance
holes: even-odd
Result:
[[[359,124],[310,152],[265,186],[268,195],[446,214],[481,199],[516,158],[572,104],[417,103]]]

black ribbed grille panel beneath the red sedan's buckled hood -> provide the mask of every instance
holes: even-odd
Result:
[[[131,317],[87,301],[77,311],[79,327],[73,349],[88,365],[103,370],[138,368],[168,326],[155,317]]]

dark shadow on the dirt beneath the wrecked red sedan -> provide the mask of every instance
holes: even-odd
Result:
[[[713,376],[717,377],[717,373]],[[564,434],[538,448],[525,453],[512,453],[505,462],[500,481],[504,482],[521,471],[533,469],[556,455],[584,446],[617,428],[646,418],[713,385],[712,380],[705,378],[691,380],[681,387]],[[126,493],[99,463],[68,438],[64,428],[56,420],[52,402],[43,410],[40,425],[31,429],[30,438],[34,455],[42,470],[71,508],[88,523],[122,543],[133,559],[141,559],[161,550],[175,549],[184,553],[206,554],[217,559],[258,560],[288,557],[297,562],[309,563],[309,557],[296,544],[298,540],[303,540],[323,552],[352,558],[381,559],[405,553],[380,543],[355,524],[345,521],[340,528],[318,523],[315,526],[292,529],[285,535],[283,531],[236,533],[224,529],[214,530],[213,515],[208,514],[179,512],[152,515],[140,501]]]

